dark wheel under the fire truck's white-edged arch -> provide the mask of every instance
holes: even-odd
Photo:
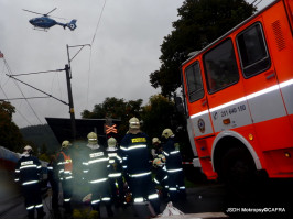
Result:
[[[257,188],[256,170],[251,155],[242,148],[230,148],[223,157],[223,179],[232,196],[253,197]]]

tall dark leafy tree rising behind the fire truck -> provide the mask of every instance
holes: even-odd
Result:
[[[178,9],[174,31],[161,45],[161,67],[150,74],[154,88],[171,97],[181,86],[181,64],[194,51],[200,51],[256,11],[245,0],[185,0]]]

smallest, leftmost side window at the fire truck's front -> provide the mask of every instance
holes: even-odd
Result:
[[[203,80],[200,75],[199,63],[188,66],[185,70],[187,80],[187,91],[189,102],[194,102],[204,97]]]

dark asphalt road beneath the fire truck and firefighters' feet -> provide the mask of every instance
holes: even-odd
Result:
[[[273,182],[270,187],[264,189],[261,196],[256,195],[250,199],[236,199],[227,195],[227,188],[216,183],[205,183],[204,185],[188,188],[186,200],[178,200],[173,204],[178,210],[185,215],[194,213],[225,213],[227,218],[241,219],[261,219],[261,218],[293,218],[293,187],[292,182]],[[43,200],[46,211],[46,219],[54,218],[50,211],[50,198]],[[10,200],[0,201],[0,218],[2,219],[24,219],[26,211],[22,197],[14,197]],[[162,200],[161,211],[165,209],[167,201]],[[80,207],[78,207],[80,208]],[[90,207],[82,207],[82,209],[90,209]],[[115,219],[145,219],[151,213],[146,206],[127,206],[112,207]],[[63,215],[63,208],[61,207]],[[69,218],[63,216],[63,218]],[[106,208],[101,206],[101,218],[108,218]],[[180,218],[173,217],[173,218]]]

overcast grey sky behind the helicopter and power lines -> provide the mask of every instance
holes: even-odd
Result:
[[[75,117],[80,118],[85,109],[93,110],[106,97],[143,99],[146,103],[150,96],[160,92],[151,87],[149,75],[160,67],[160,45],[173,30],[172,22],[178,19],[177,8],[183,1],[106,0],[105,4],[105,0],[0,0],[0,51],[12,74],[26,74],[64,68],[67,44],[91,44],[94,40],[91,47],[85,46],[72,61]],[[57,10],[51,15],[67,19],[56,21],[76,19],[77,29],[69,31],[55,25],[47,32],[36,31],[29,20],[39,15],[22,10],[47,13],[54,8]],[[70,57],[78,50],[69,48]],[[9,72],[0,59],[0,99],[6,95],[45,96],[15,84],[6,74]],[[18,78],[68,102],[64,72]],[[45,117],[69,118],[68,106],[53,98],[30,99],[30,105],[25,100],[11,102],[18,110],[13,121],[20,128],[46,123]]]

